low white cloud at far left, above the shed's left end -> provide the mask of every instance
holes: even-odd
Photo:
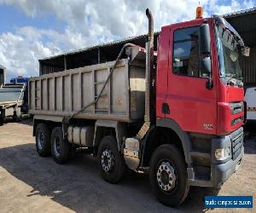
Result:
[[[47,47],[39,39],[26,40],[21,34],[11,32],[0,35],[0,61],[8,70],[8,77],[38,74],[38,58],[61,53],[58,48]]]

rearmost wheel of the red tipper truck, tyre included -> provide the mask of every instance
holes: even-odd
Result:
[[[46,124],[38,124],[36,130],[36,147],[39,156],[47,157],[50,155],[50,132]]]

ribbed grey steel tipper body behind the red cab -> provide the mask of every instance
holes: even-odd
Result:
[[[128,50],[127,50],[128,51]],[[129,59],[118,60],[111,80],[95,105],[73,118],[132,122],[143,119],[145,94],[145,53],[130,48]],[[114,61],[55,72],[29,80],[30,113],[63,118],[71,116],[100,95]]]

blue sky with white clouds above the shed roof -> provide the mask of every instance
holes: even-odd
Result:
[[[198,0],[0,0],[0,64],[7,78],[38,76],[38,59],[195,19]],[[256,0],[201,0],[204,17],[256,7]]]

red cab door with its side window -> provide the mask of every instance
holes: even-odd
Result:
[[[169,113],[165,117],[174,119],[184,131],[216,134],[216,79],[213,70],[204,72],[201,66],[201,57],[205,56],[201,55],[200,26],[177,25],[170,28],[166,93]],[[210,59],[211,55],[208,55]],[[209,78],[213,83],[212,89],[207,89]]]

